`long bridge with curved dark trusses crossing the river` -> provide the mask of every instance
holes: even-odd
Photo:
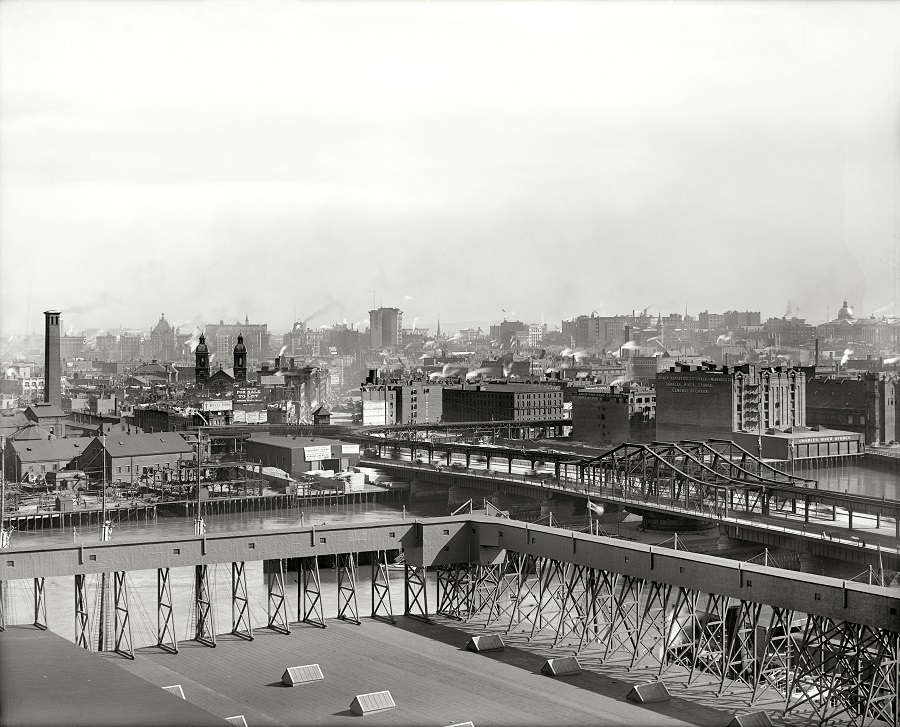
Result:
[[[405,451],[411,460],[427,454],[427,463],[424,457],[362,463],[432,484],[614,503],[647,517],[715,522],[741,540],[900,570],[900,502],[821,489],[727,440],[622,444],[591,458],[414,440],[367,447],[394,457]],[[491,469],[495,458],[505,460],[507,472]],[[513,474],[514,462],[530,469]]]

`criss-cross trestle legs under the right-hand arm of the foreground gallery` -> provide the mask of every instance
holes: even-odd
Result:
[[[490,608],[475,604],[479,570],[495,574]],[[471,610],[507,632],[525,626],[529,640],[597,648],[604,663],[650,667],[664,680],[703,676],[748,705],[772,693],[786,713],[900,725],[896,632],[513,551],[505,564],[441,566],[438,602],[439,613]]]

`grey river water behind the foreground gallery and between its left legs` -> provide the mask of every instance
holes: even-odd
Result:
[[[797,471],[796,474],[819,481],[819,487],[829,490],[848,491],[873,497],[900,499],[900,476],[860,465],[839,465]],[[435,487],[413,485],[405,503],[358,503],[354,505],[323,505],[306,508],[303,524],[325,523],[376,523],[398,520],[403,517],[438,517],[448,515],[458,506],[458,500],[469,497],[467,491],[441,491]],[[476,494],[476,497],[478,495]],[[536,502],[536,501],[535,501]],[[503,503],[500,503],[503,506]],[[207,517],[207,532],[222,533],[247,530],[275,530],[301,525],[300,511],[275,510],[265,513],[232,513]],[[121,522],[113,530],[113,540],[128,542],[145,538],[184,536],[193,533],[191,518],[159,517],[153,522]],[[13,534],[14,548],[46,547],[68,545],[73,542],[98,542],[97,528],[82,531],[44,530],[22,531]],[[247,588],[250,602],[251,622],[254,628],[267,623],[267,589],[262,562],[247,562],[245,565]],[[358,613],[367,616],[371,612],[370,569],[361,567],[357,573]],[[391,594],[395,613],[403,609],[403,573],[394,571]],[[176,637],[179,640],[191,638],[191,599],[193,592],[193,568],[173,568],[170,572],[175,615]],[[99,576],[88,576],[88,603],[92,614],[97,611]],[[211,589],[214,602],[214,622],[217,632],[231,630],[231,571],[228,564],[210,568]],[[321,570],[322,602],[325,617],[337,615],[337,571]],[[288,613],[296,618],[297,593],[296,573],[286,575]],[[128,573],[128,600],[132,621],[132,644],[135,648],[156,643],[156,588],[155,570]],[[429,587],[429,598],[433,598],[433,587]],[[48,578],[45,582],[47,622],[55,633],[71,641],[75,640],[74,618],[74,577]],[[433,610],[436,604],[429,602]],[[7,584],[8,624],[31,623],[33,619],[33,588],[31,581],[11,581]],[[95,636],[96,638],[96,636]]]

